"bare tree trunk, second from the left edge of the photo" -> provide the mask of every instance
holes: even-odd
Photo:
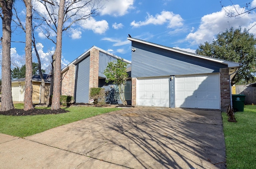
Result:
[[[24,0],[26,6],[26,76],[25,76],[25,94],[24,110],[33,109],[32,104],[32,4],[31,0]]]

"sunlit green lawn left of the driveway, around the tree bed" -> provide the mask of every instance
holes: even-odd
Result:
[[[15,104],[14,107],[23,108],[23,104]],[[0,115],[0,133],[23,138],[64,124],[120,110],[120,108],[98,107],[70,107],[64,109],[70,112],[35,116]]]

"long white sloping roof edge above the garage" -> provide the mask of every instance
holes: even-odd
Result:
[[[216,58],[213,58],[213,57],[198,55],[198,54],[195,54],[195,53],[182,51],[180,49],[174,49],[172,47],[167,47],[167,46],[163,46],[163,45],[158,45],[156,43],[151,43],[151,42],[148,42],[148,41],[144,41],[144,40],[140,40],[140,39],[136,39],[136,38],[132,38],[132,37],[127,37],[127,39],[130,40],[130,41],[137,41],[137,42],[140,42],[140,43],[144,43],[146,45],[159,47],[159,48],[166,49],[166,50],[169,50],[169,51],[174,51],[174,52],[182,53],[182,54],[185,54],[185,55],[190,55],[190,56],[193,56],[193,57],[198,57],[198,58],[201,58],[201,59],[206,59],[206,60],[209,60],[209,61],[222,63],[222,64],[225,64],[225,65],[228,65],[228,67],[239,67],[240,66],[240,64],[236,63],[236,62],[225,61],[225,60],[216,59]]]

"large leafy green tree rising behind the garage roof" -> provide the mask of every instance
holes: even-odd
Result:
[[[251,83],[256,73],[256,39],[246,29],[230,28],[217,35],[212,43],[205,42],[196,49],[199,55],[210,56],[242,64],[231,84],[240,81]]]

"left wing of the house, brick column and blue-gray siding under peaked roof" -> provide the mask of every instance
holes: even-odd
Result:
[[[114,92],[113,99],[118,103],[115,85],[106,84],[106,76],[103,74],[108,63],[117,59],[128,63],[128,67],[131,64],[130,61],[108,51],[96,46],[91,47],[62,69],[61,95],[73,96],[76,103],[88,103],[90,88],[104,87]],[[131,80],[127,81],[125,94],[127,102],[131,102]]]

